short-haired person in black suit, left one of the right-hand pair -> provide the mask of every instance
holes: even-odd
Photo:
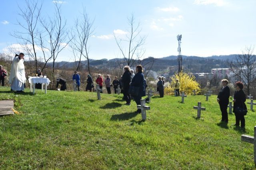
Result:
[[[222,80],[222,88],[218,94],[218,102],[220,105],[220,111],[221,111],[221,121],[225,121],[226,123],[228,123],[228,103],[229,103],[229,96],[230,96],[230,90],[228,85],[228,80],[224,79]]]

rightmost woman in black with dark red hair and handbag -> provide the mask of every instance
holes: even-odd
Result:
[[[241,121],[241,128],[245,127],[245,119],[244,115],[247,113],[246,104],[244,102],[246,101],[246,95],[244,91],[242,90],[244,88],[244,85],[242,82],[236,82],[236,92],[234,94],[234,110],[236,116],[236,124],[235,126],[239,126],[239,123]]]

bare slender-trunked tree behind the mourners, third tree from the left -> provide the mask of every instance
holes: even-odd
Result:
[[[76,71],[78,71],[82,56],[87,60],[88,72],[90,73],[88,39],[94,34],[92,27],[94,20],[90,20],[84,8],[82,16],[76,18],[74,29],[72,29],[72,50],[75,57]],[[78,64],[76,57],[78,56]]]

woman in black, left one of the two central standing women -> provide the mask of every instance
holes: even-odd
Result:
[[[124,74],[122,75],[122,90],[124,94],[124,100],[126,105],[131,105],[131,96],[129,94],[130,82],[131,82],[132,73],[130,72],[130,67],[124,67]]]

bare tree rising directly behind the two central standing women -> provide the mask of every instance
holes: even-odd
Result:
[[[118,38],[115,34],[116,44],[120,49],[121,56],[124,57],[128,66],[132,66],[135,60],[140,59],[144,55],[144,49],[142,46],[146,41],[146,36],[140,36],[141,29],[140,23],[135,23],[134,15],[128,18],[129,30],[126,34],[126,38]],[[124,47],[126,43],[126,47]],[[127,53],[126,53],[127,51]]]

